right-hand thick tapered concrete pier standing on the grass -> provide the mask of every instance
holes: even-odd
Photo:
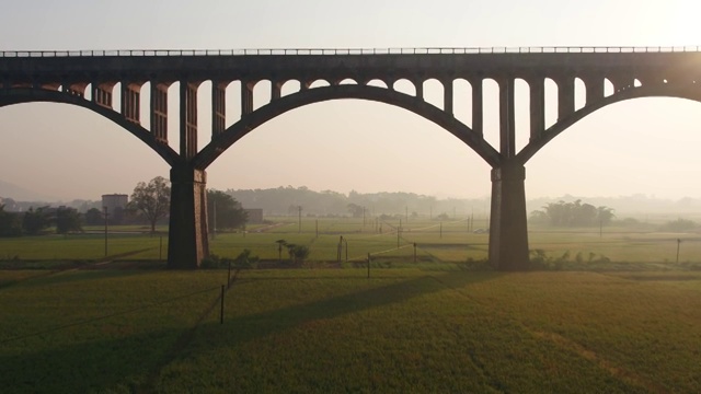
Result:
[[[528,270],[526,169],[514,160],[492,170],[490,263],[498,270]]]

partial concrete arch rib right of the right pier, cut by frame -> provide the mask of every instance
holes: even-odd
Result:
[[[526,164],[530,158],[532,158],[540,149],[542,149],[553,138],[558,137],[570,126],[584,119],[588,115],[601,109],[611,104],[620,103],[627,100],[643,99],[643,97],[673,97],[673,99],[686,99],[701,103],[701,86],[697,83],[689,83],[685,85],[675,84],[656,84],[653,86],[643,85],[634,89],[625,89],[613,93],[609,96],[602,97],[594,104],[588,104],[583,108],[574,112],[572,115],[559,120],[550,128],[545,129],[541,138],[528,143],[518,154],[516,159],[519,163]]]

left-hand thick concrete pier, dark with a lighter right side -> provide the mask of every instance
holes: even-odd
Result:
[[[186,164],[171,169],[168,268],[195,269],[209,256],[207,174]]]

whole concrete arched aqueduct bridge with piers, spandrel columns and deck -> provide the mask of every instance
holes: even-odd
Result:
[[[444,86],[443,107],[425,101],[423,83]],[[453,115],[453,81],[471,85],[472,125]],[[498,146],[483,134],[484,80],[498,84]],[[515,81],[529,86],[530,136],[516,149]],[[575,107],[575,81],[586,102]],[[281,95],[287,81],[298,92]],[[323,80],[327,86],[310,88]],[[353,84],[342,84],[342,81]],[[380,80],[388,88],[368,84]],[[411,81],[415,95],[394,90]],[[545,125],[545,81],[556,83],[556,121]],[[197,91],[211,82],[211,140],[197,147]],[[240,82],[241,118],[227,127],[226,89]],[[253,89],[271,82],[269,103],[254,109]],[[606,94],[606,83],[612,92]],[[150,85],[150,129],[141,126],[140,92]],[[168,90],[180,85],[180,141],[168,141]],[[119,112],[113,103],[120,86]],[[411,111],[443,127],[492,166],[489,258],[501,270],[528,269],[525,196],[526,162],[576,121],[607,105],[647,96],[701,101],[699,47],[620,48],[436,48],[436,49],[266,49],[114,50],[0,53],[0,106],[30,102],[68,103],[89,108],[122,126],[171,166],[169,267],[196,268],[208,255],[206,172],[240,138],[288,111],[330,100],[382,102]]]

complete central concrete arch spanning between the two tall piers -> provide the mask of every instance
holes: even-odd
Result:
[[[205,147],[194,159],[194,167],[205,170],[223,151],[231,147],[246,134],[264,123],[295,108],[304,105],[341,99],[358,99],[395,105],[414,114],[426,118],[443,127],[462,142],[472,148],[491,166],[497,166],[501,162],[499,153],[490,146],[481,136],[471,128],[448,116],[441,109],[416,97],[399,93],[389,89],[370,86],[341,84],[332,86],[315,88],[301,91],[279,100],[275,100],[255,112],[241,118],[231,125],[219,137]]]

